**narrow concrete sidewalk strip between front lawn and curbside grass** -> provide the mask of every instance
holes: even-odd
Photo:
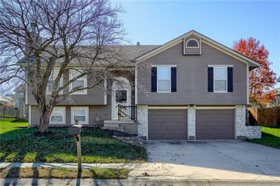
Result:
[[[92,168],[92,167],[97,167],[97,168],[114,168],[114,169],[134,169],[140,164],[85,164],[83,163],[82,166],[83,168]],[[20,162],[1,162],[0,163],[0,168],[5,168],[5,167],[64,167],[64,168],[77,168],[78,164],[76,163],[20,163]]]

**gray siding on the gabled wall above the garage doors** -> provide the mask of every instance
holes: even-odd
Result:
[[[177,91],[151,93],[151,72],[142,70],[138,72],[138,104],[246,104],[246,64],[203,42],[200,56],[184,56],[181,42],[148,61],[177,65]],[[234,65],[232,93],[208,92],[208,65]]]

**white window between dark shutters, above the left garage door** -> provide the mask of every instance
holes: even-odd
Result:
[[[158,92],[170,93],[171,92],[171,68],[158,67]]]

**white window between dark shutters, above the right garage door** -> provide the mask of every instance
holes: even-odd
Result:
[[[214,92],[228,92],[228,68],[214,67]]]

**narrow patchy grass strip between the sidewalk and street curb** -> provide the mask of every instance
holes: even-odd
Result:
[[[126,179],[130,169],[83,169],[78,175],[78,169],[61,167],[6,167],[0,169],[0,178],[99,178],[99,179]]]

